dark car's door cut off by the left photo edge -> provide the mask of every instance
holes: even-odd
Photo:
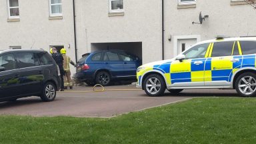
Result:
[[[20,94],[19,69],[13,53],[0,55],[0,98]]]

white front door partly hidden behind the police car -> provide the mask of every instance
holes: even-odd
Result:
[[[197,43],[197,39],[179,39],[178,40],[178,49],[177,49],[178,55],[179,55],[179,53],[185,51],[186,49],[188,49],[195,43]]]

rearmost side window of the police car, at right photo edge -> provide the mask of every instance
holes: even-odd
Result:
[[[256,53],[256,41],[240,41],[243,55]]]

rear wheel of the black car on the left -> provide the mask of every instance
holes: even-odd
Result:
[[[53,83],[48,82],[43,86],[43,93],[41,95],[42,101],[53,101],[56,97],[56,87]]]

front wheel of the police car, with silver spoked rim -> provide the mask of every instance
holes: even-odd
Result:
[[[162,96],[166,89],[165,80],[160,75],[149,75],[143,82],[143,89],[151,97]]]

